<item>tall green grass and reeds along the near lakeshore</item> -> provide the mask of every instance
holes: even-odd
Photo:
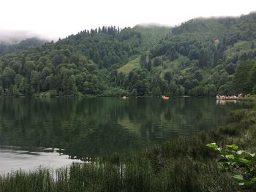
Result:
[[[130,153],[115,153],[90,164],[56,171],[17,171],[0,177],[0,191],[238,191],[217,169],[206,143],[233,144],[256,151],[256,112],[232,112],[227,125],[192,137]]]

